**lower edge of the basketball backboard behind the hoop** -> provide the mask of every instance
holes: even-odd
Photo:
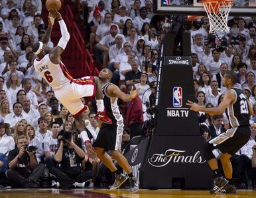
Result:
[[[256,0],[233,0],[229,16],[256,16]],[[202,0],[153,0],[155,13],[206,15]]]

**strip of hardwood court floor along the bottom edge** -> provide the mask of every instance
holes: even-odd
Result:
[[[137,193],[129,193],[127,189],[109,191],[108,189],[5,189],[0,190],[1,198],[255,198],[256,191],[239,190],[237,195],[210,195],[209,191],[187,191],[159,189],[141,189]]]

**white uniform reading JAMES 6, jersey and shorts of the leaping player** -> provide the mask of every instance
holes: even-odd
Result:
[[[34,68],[52,86],[56,98],[73,116],[78,116],[86,109],[80,98],[96,93],[94,77],[73,79],[65,65],[62,62],[52,63],[48,54],[42,59],[34,59]]]

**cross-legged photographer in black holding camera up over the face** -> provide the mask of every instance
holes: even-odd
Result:
[[[50,173],[56,176],[60,187],[84,188],[86,181],[92,178],[92,172],[81,172],[81,163],[86,154],[73,139],[72,131],[60,131],[60,145],[54,155],[60,168],[51,167]]]

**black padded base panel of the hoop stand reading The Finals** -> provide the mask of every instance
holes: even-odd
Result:
[[[152,137],[141,173],[142,187],[212,188],[213,174],[202,155],[203,144],[200,136]]]

